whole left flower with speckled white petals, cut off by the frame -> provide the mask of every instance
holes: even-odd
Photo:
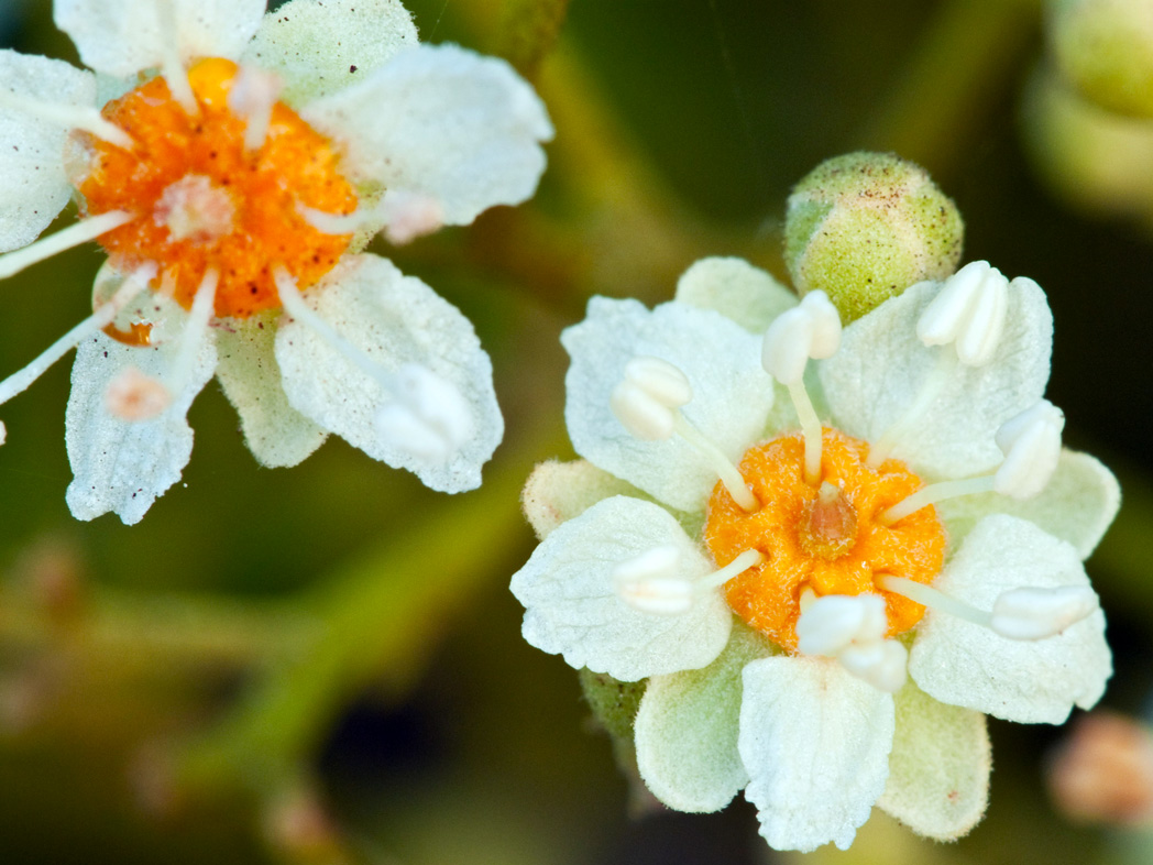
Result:
[[[0,403],[78,349],[73,513],[138,520],[180,477],[213,373],[263,465],[334,432],[434,489],[476,487],[503,435],[488,355],[453,306],[361,250],[529,197],[552,135],[532,88],[419,45],[399,0],[54,15],[93,72],[0,51],[0,277],[93,240],[108,261],[92,316]],[[80,221],[36,240],[70,200]]]

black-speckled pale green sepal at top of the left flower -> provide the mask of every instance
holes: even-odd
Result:
[[[241,62],[280,75],[281,98],[301,105],[415,45],[412,13],[400,0],[291,0],[264,16]]]

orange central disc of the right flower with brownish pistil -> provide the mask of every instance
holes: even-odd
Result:
[[[790,434],[754,445],[740,462],[761,507],[746,513],[722,484],[709,499],[704,542],[718,567],[748,549],[764,561],[725,584],[733,612],[777,645],[796,650],[800,595],[879,594],[889,637],[915,625],[925,608],[874,584],[890,573],[932,582],[944,562],[936,510],[922,507],[891,526],[879,516],[922,487],[899,460],[865,465],[868,443],[826,428],[821,487],[805,482],[805,442]]]

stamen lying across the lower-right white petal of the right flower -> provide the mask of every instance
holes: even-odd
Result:
[[[932,586],[891,573],[876,574],[874,582],[886,592],[988,627],[1010,640],[1043,640],[1055,637],[1090,616],[1098,607],[1097,595],[1087,586],[1009,589],[997,596],[993,611],[987,612]]]

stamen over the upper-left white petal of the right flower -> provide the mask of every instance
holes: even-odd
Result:
[[[656,442],[679,435],[708,461],[729,495],[746,512],[760,507],[745,479],[722,453],[680,413],[693,398],[688,378],[677,367],[660,358],[633,358],[625,364],[624,381],[609,397],[609,407],[633,436]]]

